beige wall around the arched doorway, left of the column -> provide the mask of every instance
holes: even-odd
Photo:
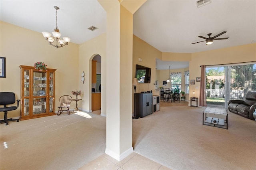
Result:
[[[83,91],[80,108],[84,111],[92,111],[92,58],[101,56],[101,115],[106,116],[106,34],[102,34],[92,40],[79,45],[79,73],[85,73],[84,84],[79,83],[79,89]]]

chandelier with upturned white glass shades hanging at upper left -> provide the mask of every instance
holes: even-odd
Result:
[[[68,43],[70,42],[70,38],[63,37],[63,40],[60,39],[61,34],[57,26],[57,10],[60,8],[58,6],[54,6],[54,8],[56,9],[56,28],[54,29],[54,32],[52,32],[53,37],[49,32],[42,32],[42,34],[45,40],[49,42],[49,45],[59,48],[68,45]]]

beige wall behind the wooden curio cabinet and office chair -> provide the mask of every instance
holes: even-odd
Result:
[[[19,65],[33,66],[42,61],[48,68],[57,69],[55,79],[55,111],[62,95],[71,95],[78,89],[78,45],[69,43],[62,48],[49,46],[39,32],[0,22],[0,56],[6,57],[6,78],[0,78],[0,91],[11,91],[20,99]],[[75,107],[72,102],[71,108]],[[20,107],[8,113],[8,117],[19,117]],[[3,114],[1,114],[3,119]]]

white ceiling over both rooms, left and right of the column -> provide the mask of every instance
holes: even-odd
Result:
[[[54,6],[60,8],[61,37],[71,38],[72,43],[81,44],[106,32],[106,12],[97,0],[0,0],[0,19],[36,32],[52,32]],[[90,31],[90,26],[98,29]],[[204,40],[198,36],[223,31],[227,33],[218,38],[227,40],[191,44]],[[134,14],[133,32],[162,52],[194,53],[256,43],[256,0],[212,0],[200,8],[196,0],[147,0]],[[156,63],[158,69],[178,64]]]

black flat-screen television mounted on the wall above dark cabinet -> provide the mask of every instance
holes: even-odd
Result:
[[[151,78],[151,68],[136,65],[136,78],[138,83],[150,83]]]

